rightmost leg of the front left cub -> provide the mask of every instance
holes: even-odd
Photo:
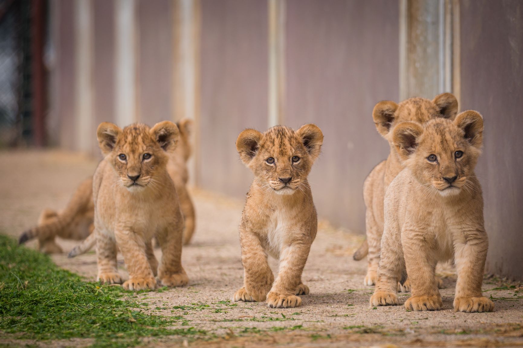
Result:
[[[182,221],[180,214],[177,222],[170,223],[157,234],[162,248],[158,278],[165,286],[183,286],[189,282],[189,277],[181,266]]]

